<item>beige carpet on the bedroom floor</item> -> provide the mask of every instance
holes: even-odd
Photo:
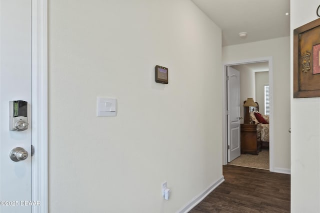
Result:
[[[269,150],[262,149],[258,155],[241,154],[228,164],[269,170]]]

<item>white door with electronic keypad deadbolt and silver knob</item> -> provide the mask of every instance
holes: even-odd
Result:
[[[9,130],[9,101],[15,100],[27,101],[27,130]],[[1,213],[31,212],[30,107],[31,0],[0,0]],[[28,153],[25,160],[14,162],[9,158],[15,147],[21,147]]]

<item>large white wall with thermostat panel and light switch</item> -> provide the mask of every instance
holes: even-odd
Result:
[[[173,213],[222,178],[220,28],[190,0],[49,0],[48,14],[51,213]],[[116,117],[96,116],[98,96]]]

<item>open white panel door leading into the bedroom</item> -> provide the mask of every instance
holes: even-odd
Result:
[[[240,156],[240,73],[227,67],[228,162]]]

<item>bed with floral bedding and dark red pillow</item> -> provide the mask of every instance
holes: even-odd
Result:
[[[269,148],[269,116],[261,114],[258,109],[259,107],[255,107],[254,111],[250,112],[250,119],[257,124],[257,140],[261,141],[261,148]]]

